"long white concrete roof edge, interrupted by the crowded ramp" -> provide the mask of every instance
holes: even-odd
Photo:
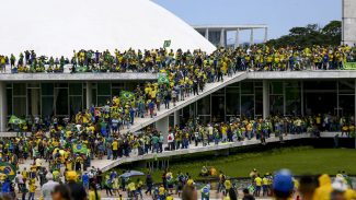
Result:
[[[326,71],[250,71],[244,80],[337,80],[356,79],[356,70]],[[85,72],[85,73],[0,73],[2,82],[21,81],[154,81],[159,73],[149,72]]]

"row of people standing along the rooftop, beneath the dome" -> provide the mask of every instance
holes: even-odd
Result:
[[[220,49],[221,50],[221,49]],[[220,51],[219,50],[219,51]],[[211,55],[202,51],[165,50],[134,50],[114,52],[110,50],[73,51],[71,58],[37,56],[34,50],[14,55],[0,56],[1,71],[5,64],[11,66],[12,72],[64,72],[66,64],[71,64],[71,72],[159,72],[171,68],[172,63],[179,68],[191,68],[191,64],[202,62],[207,68],[206,73],[217,72],[210,69],[215,62],[222,62],[221,67],[229,70],[318,70],[318,69],[343,69],[346,61],[355,60],[355,49],[348,46],[311,46],[301,48],[288,46],[274,48],[264,45],[239,47],[237,49],[223,49],[223,58],[216,52]],[[222,60],[221,60],[222,59]],[[227,63],[223,63],[227,62]],[[182,67],[182,63],[187,66]]]

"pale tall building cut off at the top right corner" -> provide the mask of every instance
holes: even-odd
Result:
[[[343,0],[343,44],[356,44],[356,1]]]

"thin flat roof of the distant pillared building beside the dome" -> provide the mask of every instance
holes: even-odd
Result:
[[[251,28],[267,28],[266,24],[228,24],[228,25],[214,25],[214,24],[203,24],[203,25],[193,25],[193,27],[197,31],[205,31],[206,28],[217,31],[217,30],[226,30],[226,31],[236,31],[236,30],[251,30]]]

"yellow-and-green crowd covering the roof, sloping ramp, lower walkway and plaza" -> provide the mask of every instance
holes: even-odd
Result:
[[[44,192],[44,196],[49,199],[56,199],[57,196],[59,199],[82,199],[80,195],[77,198],[72,192],[81,191],[84,197],[87,189],[90,191],[88,197],[97,200],[100,199],[97,188],[104,188],[107,195],[112,195],[118,192],[120,186],[123,190],[135,191],[135,195],[138,191],[141,195],[143,184],[137,180],[127,183],[126,187],[125,179],[120,179],[115,173],[104,175],[100,170],[90,169],[93,158],[118,160],[133,155],[188,149],[191,145],[217,145],[221,142],[237,142],[253,138],[265,144],[266,138],[271,134],[276,134],[283,140],[283,134],[311,132],[318,136],[321,130],[337,130],[349,137],[355,133],[353,117],[335,117],[330,114],[306,117],[271,116],[266,119],[237,117],[228,122],[209,123],[190,119],[184,125],[171,127],[166,132],[158,131],[153,127],[147,127],[139,133],[122,130],[129,129],[136,118],[154,117],[163,104],[165,108],[175,106],[179,101],[198,95],[206,84],[222,81],[225,75],[232,75],[237,71],[342,69],[345,61],[353,60],[354,52],[347,46],[313,46],[305,49],[252,46],[236,50],[220,48],[211,55],[199,50],[173,52],[165,49],[151,51],[130,49],[124,52],[115,50],[114,54],[108,50],[73,51],[70,60],[65,57],[60,59],[37,57],[33,50],[21,54],[19,58],[14,55],[10,58],[0,56],[2,72],[7,64],[11,66],[12,72],[64,72],[66,64],[71,63],[73,73],[134,71],[166,74],[163,80],[138,85],[135,91],[127,92],[126,95],[114,96],[101,107],[92,105],[90,109],[80,111],[71,118],[28,117],[25,122],[12,125],[19,134],[16,138],[0,140],[0,162],[10,163],[19,169],[19,165],[25,160],[33,160],[31,168],[19,170],[15,179],[19,190],[24,195],[23,199],[26,193],[30,200],[34,199],[37,179],[43,190],[49,187],[48,185],[54,189],[53,192]],[[31,136],[27,132],[31,132]],[[165,141],[166,145],[163,144]],[[42,160],[49,164],[48,168],[42,167]],[[60,173],[61,168],[65,168],[64,175]],[[58,184],[61,176],[65,177],[65,183],[69,183],[69,187]],[[170,176],[173,179],[172,174],[164,175],[164,177]],[[263,183],[265,177],[260,178]],[[193,180],[188,175],[177,175],[177,179],[181,183],[177,184],[177,193],[182,192],[184,198],[185,188],[186,191],[191,189],[191,195],[194,195]],[[14,191],[9,177],[4,177],[3,180],[2,192]],[[260,183],[260,179],[257,180]],[[78,189],[77,181],[82,183],[84,192]],[[147,179],[146,184],[148,183]],[[220,189],[223,188],[222,185],[227,196],[230,193],[229,187],[226,187],[223,181]],[[77,189],[68,190],[72,187]],[[150,188],[152,187],[150,184],[147,187],[149,187],[147,192],[154,190]],[[160,200],[169,199],[166,190],[173,189],[170,187],[171,185],[165,184],[163,179],[163,185],[154,190],[157,192],[154,197]],[[205,192],[208,187],[206,186],[203,191]]]

